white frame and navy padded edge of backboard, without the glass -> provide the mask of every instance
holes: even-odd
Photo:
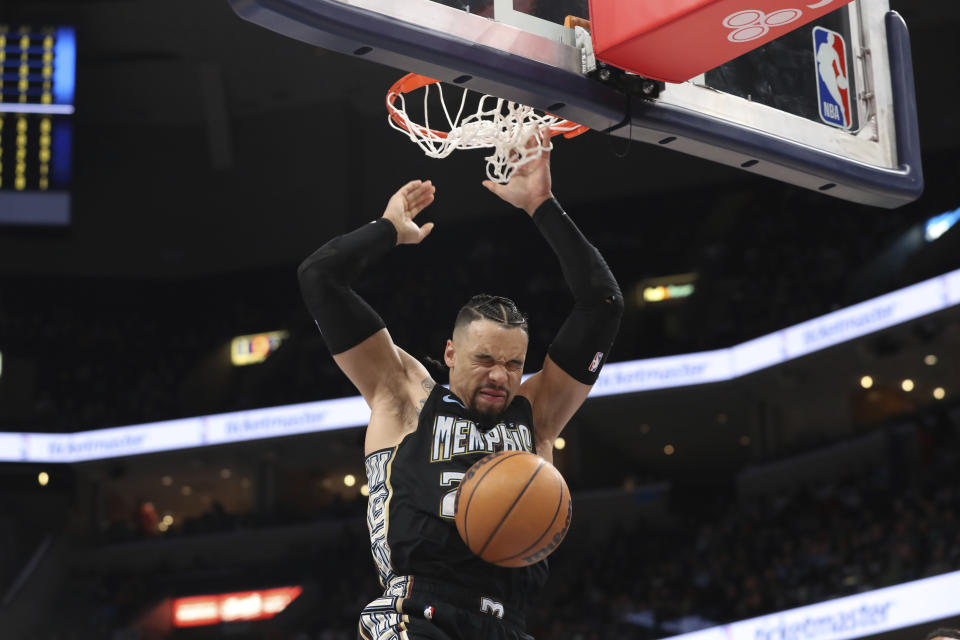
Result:
[[[537,24],[514,11],[512,0],[495,0],[497,20],[431,0],[229,2],[242,18],[308,44],[830,196],[893,208],[923,192],[909,33],[886,0],[838,9],[858,25],[850,43],[860,54],[854,71],[861,96],[873,101],[860,131],[840,135],[697,79],[667,83],[654,99],[628,95],[582,72],[572,30]],[[775,120],[781,124],[771,125]]]

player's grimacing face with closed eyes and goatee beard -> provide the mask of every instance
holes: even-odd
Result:
[[[482,416],[503,413],[520,388],[527,356],[527,332],[490,320],[476,320],[447,340],[444,359],[450,389]]]

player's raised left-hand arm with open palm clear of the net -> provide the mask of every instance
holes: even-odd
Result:
[[[394,345],[383,320],[350,285],[394,246],[419,244],[429,235],[433,223],[421,227],[414,218],[433,202],[434,191],[429,180],[407,183],[390,198],[383,217],[334,238],[297,270],[304,302],[334,360],[374,409],[427,373]]]

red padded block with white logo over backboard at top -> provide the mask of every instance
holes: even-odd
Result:
[[[683,82],[850,0],[590,0],[598,60]]]

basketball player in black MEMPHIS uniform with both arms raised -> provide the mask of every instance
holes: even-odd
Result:
[[[533,219],[575,299],[542,370],[523,383],[527,320],[512,301],[474,296],[460,310],[443,353],[448,390],[393,343],[350,287],[394,246],[430,234],[432,222],[415,221],[433,202],[430,181],[406,184],[383,217],[334,238],[298,271],[334,360],[371,408],[367,526],[384,593],[361,614],[362,640],[531,640],[524,614],[546,580],[546,561],[508,569],[473,555],[454,523],[457,485],[494,451],[552,460],[553,441],[586,399],[620,324],[620,289],[553,198],[549,155],[506,185],[483,184]]]

